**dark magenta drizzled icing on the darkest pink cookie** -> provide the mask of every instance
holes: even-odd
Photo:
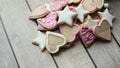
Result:
[[[81,28],[81,36],[87,46],[90,46],[96,38],[95,35],[93,34],[92,30],[89,29],[88,27]]]

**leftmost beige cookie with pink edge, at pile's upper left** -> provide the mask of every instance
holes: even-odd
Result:
[[[29,15],[30,19],[37,19],[46,16],[49,13],[49,10],[44,4],[39,4],[35,9],[32,10]]]

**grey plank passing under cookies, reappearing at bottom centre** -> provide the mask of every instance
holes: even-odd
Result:
[[[42,3],[46,3],[45,0],[41,0]],[[41,1],[28,0],[30,8],[34,8]],[[85,51],[83,45],[78,41],[73,47],[61,50],[59,54],[53,55],[55,61],[60,68],[94,68],[94,65]]]

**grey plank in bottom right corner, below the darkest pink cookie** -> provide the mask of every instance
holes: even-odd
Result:
[[[120,48],[113,38],[111,42],[96,41],[88,51],[98,68],[120,67]]]

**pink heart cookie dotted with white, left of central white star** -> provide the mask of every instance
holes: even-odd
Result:
[[[37,19],[37,22],[47,29],[54,29],[57,26],[57,14],[55,12],[49,13],[46,17]]]

